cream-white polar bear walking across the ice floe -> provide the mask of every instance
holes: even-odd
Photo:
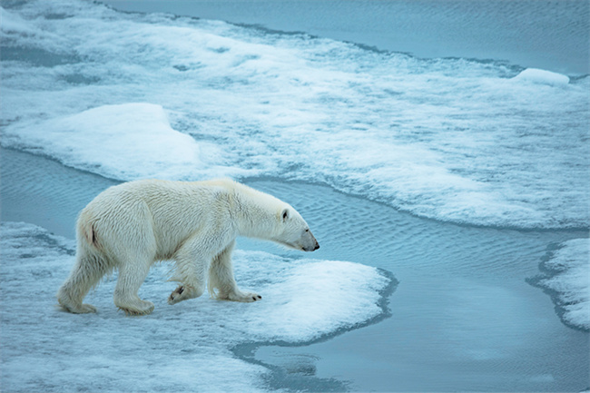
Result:
[[[61,307],[95,312],[82,300],[101,278],[119,271],[115,306],[128,315],[145,315],[151,301],[137,291],[152,264],[174,260],[171,280],[180,285],[169,304],[197,298],[205,290],[221,300],[256,301],[233,277],[231,251],[237,236],[276,241],[291,249],[320,248],[310,227],[288,203],[239,182],[126,182],[100,193],[80,212],[76,262],[57,292]]]

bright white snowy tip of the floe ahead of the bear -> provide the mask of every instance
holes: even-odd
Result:
[[[298,264],[283,280],[265,289],[266,297],[280,300],[280,306],[261,303],[246,315],[246,326],[251,334],[270,339],[317,339],[379,315],[379,290],[387,283],[378,270],[358,263],[322,260]]]

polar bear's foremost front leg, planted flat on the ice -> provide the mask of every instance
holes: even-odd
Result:
[[[252,302],[261,300],[262,297],[257,293],[242,292],[238,289],[238,284],[233,277],[233,267],[231,265],[231,251],[235,241],[221,251],[213,260],[209,268],[209,293],[211,297],[219,300],[233,300],[242,302]],[[215,292],[217,290],[217,292]]]

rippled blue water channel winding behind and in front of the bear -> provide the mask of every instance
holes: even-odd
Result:
[[[2,220],[32,222],[67,238],[74,237],[76,211],[113,184],[22,152],[3,150],[2,160]],[[548,247],[585,231],[458,226],[325,186],[277,179],[247,183],[290,201],[308,218],[321,244],[314,258],[379,267],[398,280],[387,298],[387,318],[374,324],[305,345],[268,341],[236,347],[240,359],[272,370],[266,388],[579,391],[587,386],[588,334],[567,328],[550,298],[526,282],[539,274]],[[300,256],[247,239],[238,248]]]

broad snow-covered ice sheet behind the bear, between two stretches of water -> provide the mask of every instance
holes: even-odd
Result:
[[[587,76],[567,83],[502,63],[424,60],[74,0],[9,5],[4,146],[119,180],[277,176],[441,221],[588,227]],[[138,142],[135,161],[119,157],[124,139],[103,119],[76,122],[80,138],[60,146],[64,123],[129,103],[163,108],[170,127],[154,127],[176,135],[170,153],[154,157]],[[125,122],[113,117],[115,128]],[[133,130],[153,133],[143,122]],[[197,143],[190,159],[172,154],[193,145],[180,133]]]

